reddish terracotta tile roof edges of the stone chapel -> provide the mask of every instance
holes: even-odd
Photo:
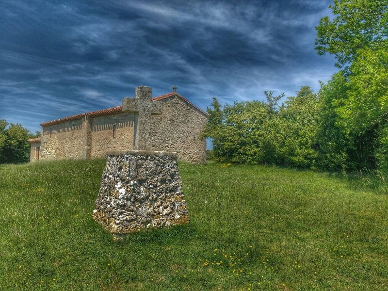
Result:
[[[202,109],[199,109],[193,103],[191,103],[189,100],[187,100],[185,97],[183,97],[182,95],[180,95],[176,92],[171,92],[171,93],[167,93],[164,95],[160,95],[160,96],[152,98],[152,100],[158,101],[158,100],[162,100],[162,99],[172,97],[172,96],[177,96],[177,97],[181,98],[183,101],[189,103],[191,106],[193,106],[195,109],[197,109],[200,113],[204,114],[205,116],[208,116],[208,113],[204,112]],[[40,125],[41,126],[50,126],[50,125],[62,123],[65,121],[80,119],[81,117],[86,116],[86,115],[91,116],[91,117],[95,117],[95,116],[101,116],[101,115],[108,115],[108,114],[112,114],[112,113],[119,113],[121,111],[122,111],[121,106],[116,106],[116,107],[112,107],[112,108],[107,108],[107,109],[102,109],[102,110],[97,110],[97,111],[92,111],[92,112],[87,112],[87,113],[75,114],[75,115],[71,115],[71,116],[43,122]]]

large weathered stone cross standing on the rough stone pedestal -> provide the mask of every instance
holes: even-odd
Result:
[[[162,114],[162,102],[152,100],[151,87],[138,86],[134,98],[123,98],[123,111],[138,113],[135,115],[134,142],[135,150],[151,150],[149,134],[151,130],[151,115]]]

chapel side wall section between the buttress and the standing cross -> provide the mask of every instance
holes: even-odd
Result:
[[[92,158],[104,156],[107,151],[133,149],[134,114],[117,113],[92,118],[90,134]]]

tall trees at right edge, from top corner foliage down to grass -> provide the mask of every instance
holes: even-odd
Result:
[[[322,85],[319,163],[332,169],[388,167],[388,0],[334,0],[317,29],[318,54],[342,71]]]

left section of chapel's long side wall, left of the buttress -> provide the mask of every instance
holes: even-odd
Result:
[[[42,128],[41,160],[81,159],[85,148],[83,119],[66,121]]]

